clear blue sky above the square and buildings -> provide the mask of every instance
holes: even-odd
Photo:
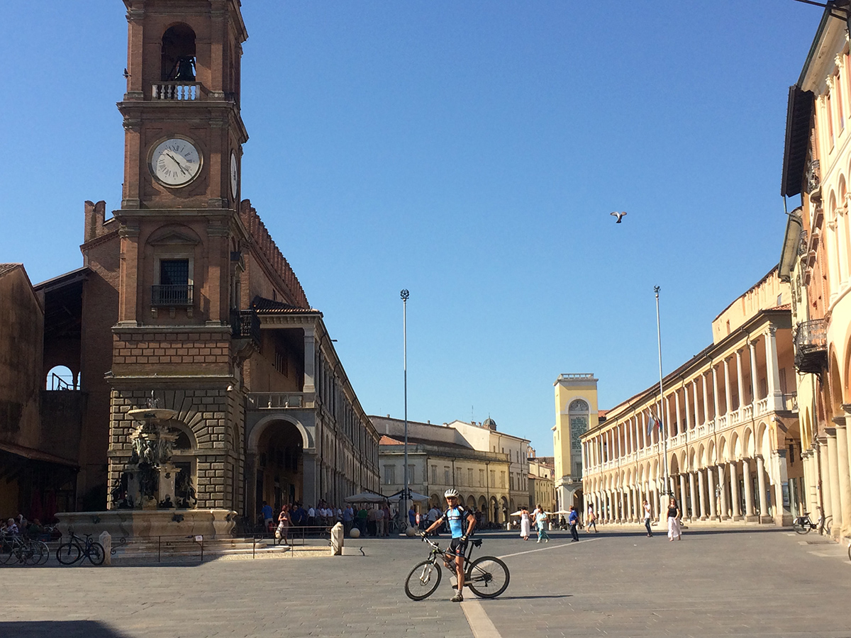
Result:
[[[792,0],[243,0],[243,197],[323,311],[367,413],[491,416],[552,450],[552,383],[600,407],[711,343],[780,258]],[[82,265],[120,205],[120,0],[0,4],[0,261]],[[793,204],[791,204],[793,205]],[[790,206],[791,208],[791,206]],[[628,214],[614,224],[612,211]]]

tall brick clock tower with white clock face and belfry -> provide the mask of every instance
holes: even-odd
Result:
[[[112,328],[110,489],[138,425],[132,407],[177,411],[175,500],[243,505],[246,341],[238,316],[246,230],[239,111],[248,37],[238,0],[124,0],[129,22],[119,225],[119,308]],[[151,395],[152,393],[152,395]],[[187,481],[188,479],[188,481]],[[109,507],[116,507],[112,498]]]

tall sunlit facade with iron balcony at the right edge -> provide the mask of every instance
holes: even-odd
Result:
[[[789,89],[781,193],[801,206],[788,218],[780,276],[793,291],[806,509],[823,510],[837,539],[851,533],[849,117],[848,29],[829,7]]]

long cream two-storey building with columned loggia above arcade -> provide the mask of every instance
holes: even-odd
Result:
[[[585,506],[605,522],[790,525],[805,493],[789,288],[777,268],[712,322],[713,343],[581,437]],[[652,368],[652,366],[648,367]],[[667,482],[665,478],[667,477]]]

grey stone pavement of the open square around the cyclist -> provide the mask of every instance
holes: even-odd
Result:
[[[636,526],[549,544],[484,535],[500,598],[409,601],[426,546],[351,541],[361,556],[156,567],[3,567],[0,636],[851,636],[847,551],[788,529],[701,527],[683,542]],[[443,541],[446,539],[443,538]],[[471,620],[468,621],[467,618]]]

